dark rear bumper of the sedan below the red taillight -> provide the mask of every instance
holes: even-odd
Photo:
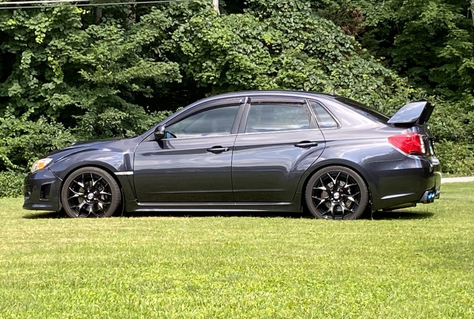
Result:
[[[367,164],[364,171],[369,176],[373,209],[433,203],[440,196],[439,169],[436,157],[411,155],[402,160]]]

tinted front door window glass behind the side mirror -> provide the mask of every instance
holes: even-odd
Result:
[[[206,109],[166,126],[177,138],[230,134],[239,105]]]

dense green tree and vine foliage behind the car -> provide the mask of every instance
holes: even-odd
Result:
[[[206,95],[338,86],[387,113],[435,101],[445,171],[474,172],[468,0],[220,5],[0,10],[0,171],[77,139],[138,134]]]

